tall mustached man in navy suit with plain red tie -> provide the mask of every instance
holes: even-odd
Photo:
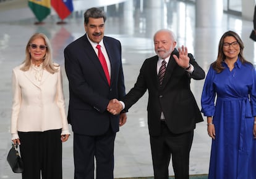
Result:
[[[106,15],[98,8],[84,14],[86,34],[64,50],[69,79],[68,121],[74,132],[75,179],[113,179],[114,139],[126,113],[113,98],[125,95],[121,43],[104,36]]]

